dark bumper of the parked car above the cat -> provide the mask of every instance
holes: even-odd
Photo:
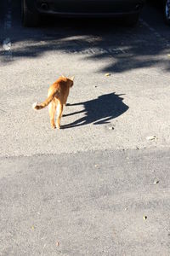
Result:
[[[32,12],[67,17],[116,17],[140,12],[144,0],[27,0]]]

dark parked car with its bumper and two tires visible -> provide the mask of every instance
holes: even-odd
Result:
[[[23,26],[38,26],[42,15],[123,17],[135,25],[145,0],[21,0]]]

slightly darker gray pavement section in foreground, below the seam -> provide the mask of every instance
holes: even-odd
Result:
[[[169,255],[169,165],[147,149],[2,158],[1,255]]]

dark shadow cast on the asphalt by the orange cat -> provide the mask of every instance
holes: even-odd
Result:
[[[111,119],[115,119],[122,113],[125,113],[128,109],[128,106],[122,102],[123,98],[121,96],[122,95],[116,95],[116,93],[113,92],[99,96],[98,98],[88,102],[67,104],[68,107],[66,108],[70,108],[70,106],[83,105],[84,109],[74,113],[64,114],[63,117],[78,113],[83,113],[83,117],[69,125],[62,125],[62,128],[65,129],[88,124],[102,125],[110,123]]]

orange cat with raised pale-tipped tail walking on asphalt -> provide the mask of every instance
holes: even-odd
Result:
[[[69,96],[70,88],[73,85],[74,77],[71,79],[65,78],[64,76],[57,79],[48,89],[48,98],[42,103],[34,103],[32,108],[42,109],[48,106],[49,117],[52,128],[56,128],[55,125],[55,112],[57,108],[57,128],[60,128],[60,119],[63,112],[63,107],[66,104],[67,97]]]

